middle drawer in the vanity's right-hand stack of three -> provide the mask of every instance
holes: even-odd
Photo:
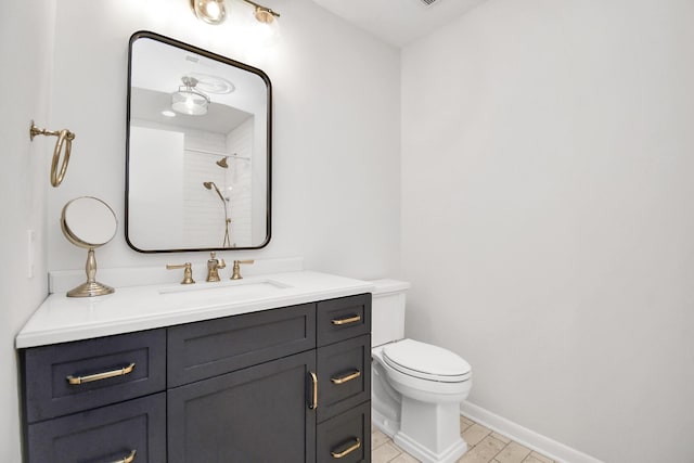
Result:
[[[318,350],[318,421],[322,422],[371,398],[371,335]]]

